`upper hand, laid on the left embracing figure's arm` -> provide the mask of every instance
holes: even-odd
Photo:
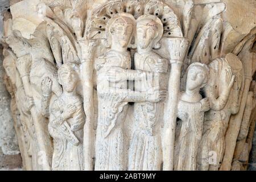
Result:
[[[127,71],[126,69],[120,67],[114,67],[109,69],[106,72],[106,78],[110,82],[122,82],[127,80]]]

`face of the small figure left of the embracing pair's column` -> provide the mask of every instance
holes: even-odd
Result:
[[[78,82],[78,75],[72,68],[64,65],[63,68],[59,69],[59,82],[63,86],[66,92],[73,92]]]

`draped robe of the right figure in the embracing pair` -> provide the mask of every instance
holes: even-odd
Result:
[[[167,74],[154,72],[155,64],[163,61],[155,52],[135,54],[135,69],[147,71],[147,78],[135,81],[135,90],[146,91],[150,87],[167,89]],[[168,65],[167,65],[168,66]],[[160,170],[162,146],[160,129],[163,124],[163,102],[135,102],[134,118],[136,129],[129,148],[129,170]]]

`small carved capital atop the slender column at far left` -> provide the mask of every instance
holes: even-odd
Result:
[[[16,67],[21,77],[28,75],[28,73],[30,72],[32,62],[30,58],[30,56],[26,55],[17,59]]]

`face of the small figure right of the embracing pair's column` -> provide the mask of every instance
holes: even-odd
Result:
[[[200,67],[192,67],[188,71],[187,75],[187,90],[194,90],[196,88],[201,88],[203,84],[206,83],[205,79],[207,78],[206,73],[203,68]]]

